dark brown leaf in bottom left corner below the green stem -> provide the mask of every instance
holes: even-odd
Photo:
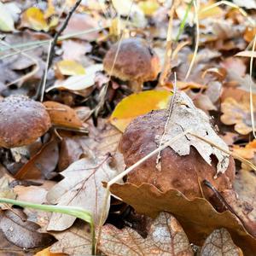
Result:
[[[39,228],[38,224],[27,221],[21,210],[0,212],[0,229],[18,247],[30,249],[49,246],[54,238],[49,234],[39,233]]]

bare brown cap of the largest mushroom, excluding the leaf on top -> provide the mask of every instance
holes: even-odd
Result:
[[[158,110],[134,119],[126,128],[119,143],[119,149],[124,155],[125,164],[131,166],[145,155],[152,152],[158,145],[155,137],[163,134],[166,124],[166,110]],[[228,169],[218,178],[213,178],[217,172],[217,160],[212,159],[212,166],[208,165],[197,150],[190,148],[190,154],[180,156],[165,148],[161,152],[161,170],[156,168],[156,157],[151,157],[133,172],[128,174],[127,182],[140,185],[151,183],[161,191],[177,189],[189,199],[202,197],[209,198],[212,191],[202,184],[207,179],[218,191],[230,189],[235,178],[235,163],[230,157]]]

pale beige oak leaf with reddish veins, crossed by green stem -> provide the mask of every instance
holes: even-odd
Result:
[[[61,174],[65,177],[49,190],[47,200],[51,204],[61,206],[82,207],[91,212],[97,224],[102,211],[108,212],[108,207],[102,209],[105,189],[102,181],[109,181],[117,175],[109,165],[109,158],[81,159],[74,162]],[[106,214],[107,218],[107,214]],[[61,213],[53,213],[48,230],[66,230],[75,221],[75,217]]]

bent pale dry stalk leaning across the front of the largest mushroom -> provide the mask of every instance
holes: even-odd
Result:
[[[110,187],[111,185],[113,185],[113,183],[118,182],[121,178],[125,177],[125,175],[127,175],[129,172],[133,171],[135,168],[137,168],[137,166],[140,166],[141,164],[143,164],[144,161],[148,160],[150,157],[154,156],[154,154],[157,154],[158,152],[160,152],[161,150],[163,150],[164,148],[167,148],[168,146],[170,146],[172,143],[174,143],[175,141],[177,141],[180,137],[185,136],[186,134],[189,133],[190,130],[186,130],[183,131],[182,133],[177,134],[177,136],[173,137],[171,140],[169,140],[168,142],[162,144],[159,148],[154,149],[152,152],[150,152],[149,154],[145,155],[141,160],[138,160],[137,163],[135,163],[134,165],[130,166],[129,168],[127,168],[124,172],[119,173],[118,176],[114,177],[112,180],[110,180],[107,183],[107,187],[106,187],[106,194],[105,194],[105,200],[103,203],[103,207],[102,207],[102,214],[101,214],[101,218],[100,218],[100,223],[99,223],[99,229],[98,229],[98,234],[97,234],[97,239],[96,239],[96,248],[98,243],[101,240],[101,236],[102,236],[102,226],[103,226],[103,221],[104,221],[104,209],[107,208],[107,204],[108,204],[108,197],[110,195]]]

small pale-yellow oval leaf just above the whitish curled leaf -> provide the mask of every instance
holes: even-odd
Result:
[[[76,61],[59,61],[56,63],[58,71],[62,75],[75,76],[85,73],[84,67]]]

